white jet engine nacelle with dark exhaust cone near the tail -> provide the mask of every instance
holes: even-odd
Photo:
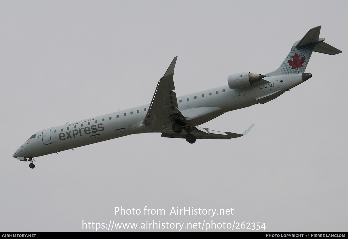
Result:
[[[263,77],[261,74],[252,74],[250,72],[242,72],[227,77],[228,86],[231,89],[239,89],[251,86],[252,84],[260,81]]]

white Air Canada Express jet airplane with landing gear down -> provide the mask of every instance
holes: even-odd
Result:
[[[158,81],[150,104],[41,130],[33,134],[13,154],[17,160],[58,153],[136,133],[157,132],[165,138],[182,138],[190,144],[196,139],[232,139],[243,133],[220,132],[200,128],[228,111],[264,104],[312,77],[305,73],[312,52],[329,55],[341,53],[319,38],[321,26],[310,29],[296,41],[283,63],[267,74],[240,72],[227,77],[228,85],[177,97],[174,90],[174,57]]]

